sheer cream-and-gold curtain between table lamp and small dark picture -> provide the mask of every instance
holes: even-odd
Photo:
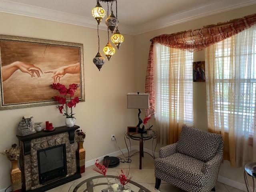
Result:
[[[161,144],[178,141],[182,125],[193,125],[193,53],[154,45],[156,124]]]

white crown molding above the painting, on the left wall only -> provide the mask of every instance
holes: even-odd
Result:
[[[8,0],[0,0],[0,12],[51,20],[66,24],[84,26],[97,29],[97,22],[94,18],[60,12],[56,10],[46,9],[27,4],[11,2]],[[100,30],[107,30],[105,24],[99,25]],[[133,28],[125,25],[119,25],[120,31],[123,34],[133,35]]]

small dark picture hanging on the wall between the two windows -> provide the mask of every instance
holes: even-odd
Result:
[[[205,61],[193,62],[193,82],[205,82]]]

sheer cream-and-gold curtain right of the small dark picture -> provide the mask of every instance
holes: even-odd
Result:
[[[256,160],[256,25],[205,50],[208,128],[232,166]]]

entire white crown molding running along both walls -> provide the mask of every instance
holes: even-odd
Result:
[[[241,8],[244,6],[250,6],[252,4],[256,4],[256,0],[243,0],[242,2],[241,0],[218,0],[216,2],[192,8],[184,12],[171,14],[169,16],[141,24],[139,26],[126,26],[120,24],[119,28],[123,34],[138,35],[183,22],[188,22],[205,16],[210,16],[220,12]],[[27,4],[21,4],[17,2],[11,2],[8,0],[0,0],[0,12],[51,20],[88,28],[97,28],[97,23],[95,22],[94,18],[31,6]],[[106,26],[100,25],[99,29],[106,30]]]

